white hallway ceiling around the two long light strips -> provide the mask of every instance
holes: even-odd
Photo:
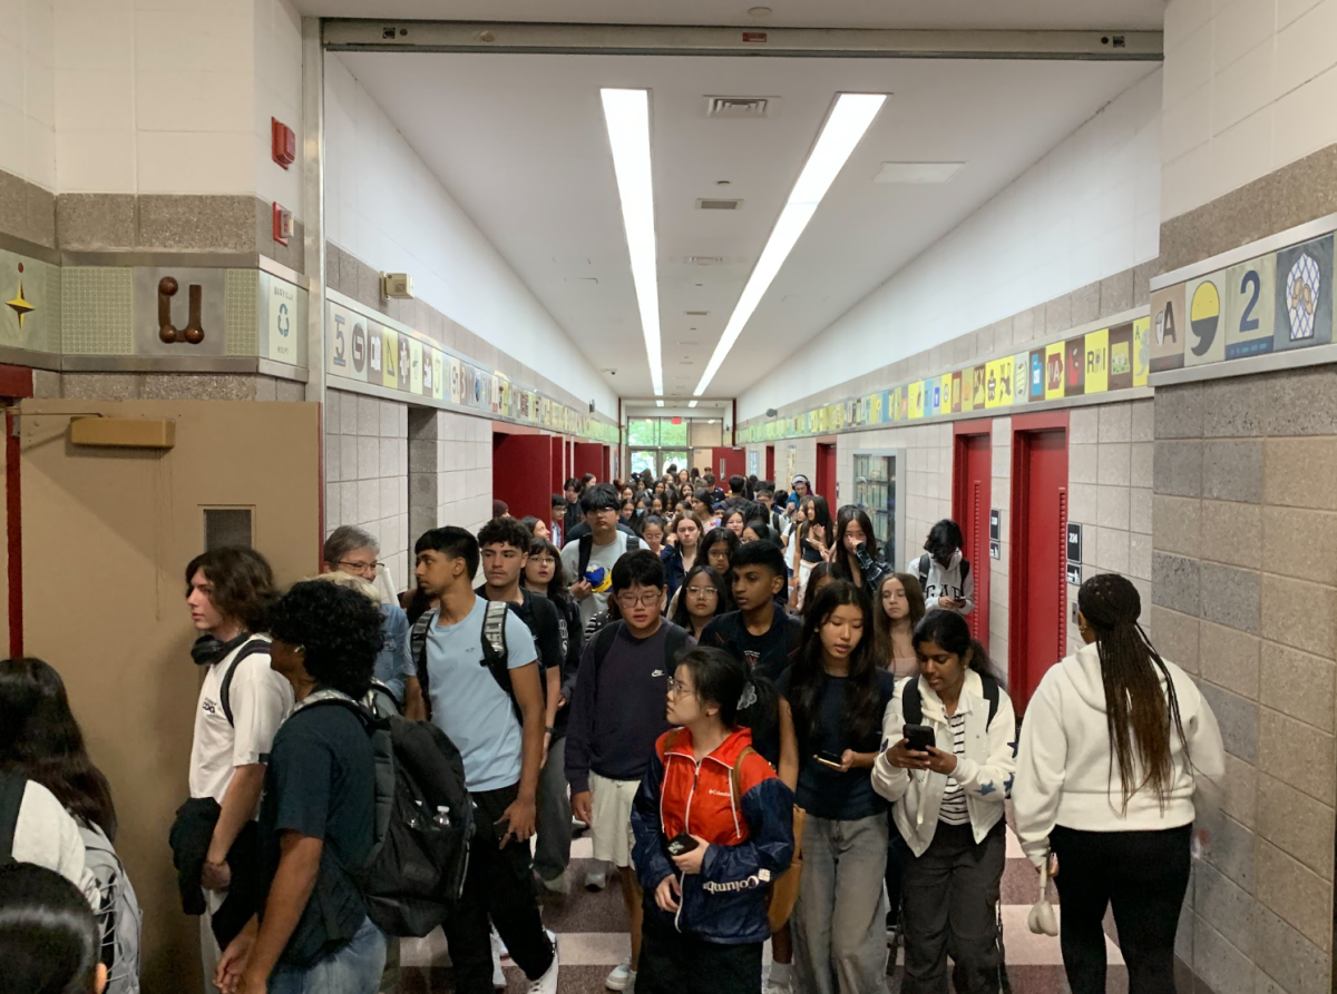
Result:
[[[353,0],[312,3],[322,13],[354,5]],[[1043,12],[1051,5],[1060,9],[1047,0],[1027,9]],[[413,4],[398,0],[390,7]],[[449,13],[468,16],[467,7],[452,4]],[[512,17],[540,9],[521,0],[488,7],[495,16],[504,8]],[[567,20],[574,19],[570,7],[563,5]],[[845,3],[840,9],[869,17],[874,7],[881,4]],[[935,13],[983,7],[933,4]],[[1159,0],[1062,4],[1070,13],[1070,8],[1112,7],[1154,8],[1159,25]],[[798,5],[777,4],[781,9]],[[330,57],[341,59],[366,87],[595,369],[618,370],[604,373],[604,379],[624,397],[652,391],[600,87],[651,90],[668,397],[689,397],[701,378],[834,96],[892,95],[707,390],[713,397],[737,397],[1158,67],[500,52]],[[706,95],[766,96],[778,103],[766,119],[719,119],[706,116]],[[874,183],[884,162],[965,166],[944,184]],[[743,203],[734,211],[699,210],[701,198]],[[690,262],[693,257],[718,262],[701,265]],[[969,274],[963,273],[963,293],[968,285]],[[888,329],[888,334],[913,334],[913,329]]]

